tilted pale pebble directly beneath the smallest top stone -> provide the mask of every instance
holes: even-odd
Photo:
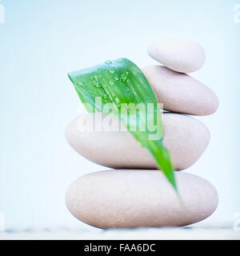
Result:
[[[143,74],[150,82],[164,110],[208,115],[218,109],[218,97],[202,82],[166,66],[146,66]]]

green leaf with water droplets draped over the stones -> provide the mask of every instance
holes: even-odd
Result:
[[[162,113],[142,71],[126,58],[70,72],[71,82],[88,112],[113,114],[157,162],[177,191],[169,151],[162,144]]]

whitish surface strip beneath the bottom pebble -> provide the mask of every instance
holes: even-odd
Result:
[[[194,240],[194,239],[240,239],[240,231],[235,232],[230,224],[215,226],[194,225],[185,228],[138,228],[133,230],[26,230],[0,233],[0,240],[70,239],[70,240]]]

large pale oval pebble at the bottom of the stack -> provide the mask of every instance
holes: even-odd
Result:
[[[179,194],[160,170],[105,170],[78,178],[66,206],[82,222],[99,228],[186,226],[207,218],[218,193],[206,179],[175,173]]]

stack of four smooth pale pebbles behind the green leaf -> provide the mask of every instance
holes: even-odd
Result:
[[[66,139],[83,157],[116,170],[78,178],[67,190],[66,205],[93,226],[186,226],[210,216],[218,205],[210,182],[180,171],[198,161],[210,141],[206,126],[186,114],[208,115],[218,108],[213,91],[186,74],[202,67],[205,53],[198,43],[180,39],[154,43],[148,53],[164,65],[147,66],[142,72],[169,111],[163,114],[163,143],[170,150],[181,198],[127,130],[96,132],[86,121],[100,113],[88,114],[70,123]]]

